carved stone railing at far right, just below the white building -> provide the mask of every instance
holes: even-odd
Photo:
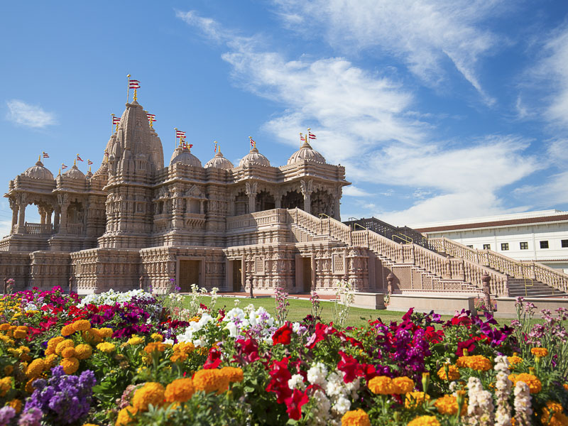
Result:
[[[537,280],[564,293],[568,293],[568,275],[535,261],[515,261],[492,250],[471,249],[445,237],[430,239],[436,250],[449,256],[479,263],[513,278]]]

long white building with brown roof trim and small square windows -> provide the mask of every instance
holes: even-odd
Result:
[[[409,225],[429,238],[453,239],[568,273],[568,212],[542,210]]]

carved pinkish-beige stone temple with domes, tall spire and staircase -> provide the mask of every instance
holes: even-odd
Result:
[[[221,152],[202,165],[179,146],[164,165],[160,138],[134,101],[102,151],[95,173],[74,165],[54,177],[38,160],[9,182],[0,278],[14,278],[18,290],[72,285],[80,294],[160,291],[171,278],[182,291],[252,285],[256,294],[334,293],[337,280],[361,293],[478,293],[490,280],[493,295],[508,295],[526,269],[443,238],[424,244],[376,219],[339,222],[345,169],[307,142],[279,167],[256,147],[235,166]],[[38,224],[26,222],[31,204]],[[532,273],[568,288],[568,275]]]

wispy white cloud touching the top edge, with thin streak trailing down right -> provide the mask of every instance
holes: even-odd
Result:
[[[488,104],[479,82],[479,59],[504,40],[483,26],[506,10],[501,0],[275,0],[285,24],[308,36],[323,33],[342,51],[379,48],[398,56],[429,84],[446,75],[444,62],[471,83]],[[299,17],[302,21],[299,21]]]

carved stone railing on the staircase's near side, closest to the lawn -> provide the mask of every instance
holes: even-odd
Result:
[[[417,244],[397,243],[369,229],[351,231],[349,226],[335,219],[318,219],[301,209],[290,209],[288,214],[293,223],[314,234],[329,235],[345,244],[365,247],[378,256],[388,258],[395,263],[418,266],[444,280],[463,280],[479,288],[480,291],[483,288],[481,277],[487,273],[491,277],[491,293],[499,296],[508,295],[506,275],[469,259],[446,258]]]

